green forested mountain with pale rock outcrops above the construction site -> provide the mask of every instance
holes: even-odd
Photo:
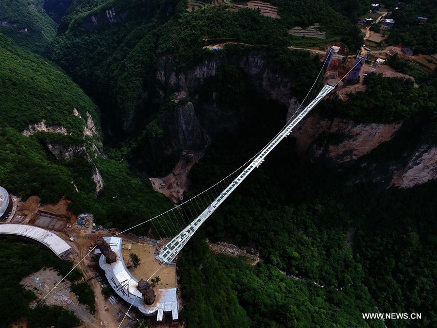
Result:
[[[0,62],[2,186],[43,202],[66,195],[74,212],[89,210],[108,225],[133,204],[140,205],[127,215],[131,222],[168,207],[148,180],[134,179],[127,164],[96,151],[99,110],[62,70],[1,34]],[[120,202],[112,201],[114,193]]]

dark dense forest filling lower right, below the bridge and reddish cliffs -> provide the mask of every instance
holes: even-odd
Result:
[[[406,133],[404,137],[408,138]],[[194,183],[205,187],[204,180],[225,175],[223,173],[230,170],[226,158],[238,158],[241,152],[239,142],[244,143],[244,140],[236,142],[236,138],[228,137],[226,149],[219,146],[223,140],[212,145],[203,163],[195,167],[191,174]],[[402,151],[399,144],[407,145],[402,139],[395,139],[383,152],[387,154],[387,149],[395,148]],[[235,148],[230,148],[231,145]],[[193,320],[195,324],[202,325],[202,320],[213,322],[221,318],[221,310],[213,301],[214,296],[201,297],[204,297],[205,290],[228,295],[226,289],[231,286],[236,292],[238,304],[230,297],[223,302],[229,307],[242,307],[251,314],[250,318],[258,318],[250,323],[253,327],[281,325],[295,308],[300,311],[296,322],[298,327],[307,322],[305,318],[309,315],[311,322],[324,320],[324,326],[337,324],[343,327],[344,323],[336,320],[348,317],[347,326],[362,327],[365,324],[360,322],[361,312],[378,310],[422,313],[421,321],[386,321],[390,327],[433,326],[437,320],[433,311],[436,296],[432,292],[437,284],[437,258],[433,252],[436,247],[434,195],[437,184],[430,182],[413,190],[380,190],[371,184],[346,187],[344,183],[348,177],[360,174],[359,169],[336,173],[320,165],[300,162],[289,152],[293,144],[288,140],[278,147],[204,227],[210,239],[257,248],[263,264],[250,270],[240,269],[242,264],[236,265],[237,260],[222,259],[220,265],[226,268],[222,271],[223,275],[230,276],[230,281],[225,279],[222,284],[216,284],[214,277],[221,271],[219,265],[214,264],[217,257],[210,259],[202,242],[193,244],[195,250],[185,251],[184,263],[194,263],[203,257],[207,259],[203,266],[185,266],[181,265],[182,260],[180,262],[181,276],[187,279],[183,294],[186,293],[190,300],[185,312],[187,322]],[[332,295],[321,296],[328,304],[319,303],[324,311],[315,312],[313,297],[319,291],[317,287],[309,284],[316,289],[311,289],[305,296],[307,292],[302,290],[302,286],[308,285],[295,280],[284,282],[281,274],[277,271],[274,274],[278,269],[324,286],[344,288],[339,291],[331,289]],[[186,278],[193,275],[196,277],[194,280]],[[262,280],[256,278],[258,275]],[[201,278],[202,284],[195,285],[195,281]],[[266,291],[266,284],[271,285],[272,290]],[[294,290],[297,286],[301,289],[299,292],[287,292],[284,284],[289,284],[289,288]],[[321,293],[327,291],[323,289]],[[292,300],[287,300],[288,293],[292,293]],[[306,305],[297,305],[297,299],[307,302]],[[275,323],[261,319],[269,318],[270,302],[276,309],[270,319]],[[202,311],[206,313],[204,317],[199,317],[194,311],[201,303],[206,304]],[[276,307],[276,304],[282,307]],[[373,308],[375,304],[378,310]],[[330,317],[327,309],[331,306],[344,312],[339,317]],[[287,310],[281,312],[278,309]],[[352,314],[353,311],[357,313]],[[256,314],[259,312],[264,315],[258,317]],[[367,324],[381,323],[374,320]]]

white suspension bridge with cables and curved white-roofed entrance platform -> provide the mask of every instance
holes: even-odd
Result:
[[[327,96],[335,87],[346,77],[360,61],[355,61],[353,67],[341,78],[336,84],[325,84],[325,69],[329,66],[329,59],[332,57],[331,52],[328,51],[323,65],[317,75],[313,85],[309,92],[304,97],[302,103],[298,106],[292,117],[287,121],[286,125],[279,131],[279,133],[272,138],[265,147],[263,147],[256,155],[249,159],[246,163],[241,165],[233,173],[220,180],[215,185],[202,191],[198,195],[190,198],[183,203],[172,207],[168,211],[148,219],[144,222],[138,223],[124,231],[119,232],[113,237],[107,238],[107,241],[112,243],[113,250],[120,252],[120,242],[117,239],[113,239],[120,234],[123,234],[129,230],[132,230],[142,224],[149,224],[149,226],[155,230],[157,235],[162,241],[166,241],[164,245],[159,247],[155,252],[155,259],[160,263],[160,267],[146,280],[149,281],[155,274],[165,265],[171,265],[177,259],[178,254],[181,252],[186,243],[196,233],[196,231],[202,226],[202,224],[214,213],[214,211],[226,200],[227,197],[246,179],[250,173],[258,168],[265,160],[267,155],[284,139],[291,131],[299,124],[303,118],[317,105],[319,102]],[[70,271],[70,273],[89,256],[96,246],[91,249],[83,259],[81,259]],[[120,256],[121,257],[121,256]],[[120,258],[118,257],[118,258]],[[155,308],[148,308],[145,306],[141,293],[137,293],[136,288],[138,286],[138,280],[135,279],[126,269],[124,262],[121,260],[121,264],[114,263],[113,266],[104,262],[104,256],[100,259],[101,268],[109,270],[112,274],[109,275],[114,280],[113,289],[118,293],[125,301],[130,303],[129,310],[126,311],[124,318],[128,315],[130,309],[134,306],[138,310],[144,309],[143,313],[152,313]],[[109,268],[109,269],[108,269]],[[114,268],[118,268],[114,270]],[[117,271],[117,272],[116,272]],[[126,272],[127,271],[127,272]],[[69,274],[69,273],[68,273]],[[67,274],[67,276],[68,276]],[[67,276],[65,276],[53,289],[47,293],[43,299],[45,299]],[[108,277],[108,275],[106,275]],[[120,277],[123,277],[121,279]],[[119,279],[120,278],[120,279]],[[109,280],[109,278],[108,278]],[[120,281],[118,283],[116,280]],[[121,281],[123,280],[123,281]],[[108,281],[109,282],[109,281]],[[127,290],[127,293],[125,292]],[[41,301],[43,300],[41,299]],[[177,302],[177,301],[176,301]],[[177,303],[176,303],[177,304]],[[165,304],[163,305],[165,307]],[[159,306],[158,306],[159,308]],[[152,309],[152,310],[151,310]],[[162,309],[161,309],[162,310]],[[164,310],[162,310],[164,311]],[[158,319],[162,320],[162,311],[158,309]],[[174,317],[174,309],[172,309]],[[161,315],[160,315],[161,313]],[[177,309],[176,309],[177,315]],[[124,320],[123,318],[123,320]],[[120,322],[121,326],[123,320]]]

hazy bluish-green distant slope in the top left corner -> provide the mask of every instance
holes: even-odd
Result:
[[[44,10],[44,0],[2,0],[0,34],[36,53],[44,51],[56,34],[57,24]],[[3,45],[0,45],[3,48]]]

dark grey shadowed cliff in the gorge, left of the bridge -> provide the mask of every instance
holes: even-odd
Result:
[[[173,98],[179,102],[174,110],[167,110],[160,118],[159,125],[166,136],[163,140],[149,140],[149,151],[156,156],[160,149],[165,156],[175,161],[184,150],[202,151],[218,134],[232,133],[246,119],[247,112],[240,108],[220,106],[216,99],[205,101],[200,96],[201,89],[210,78],[218,74],[221,65],[236,66],[249,77],[251,88],[265,98],[283,104],[293,110],[297,100],[292,96],[289,78],[280,69],[273,69],[268,64],[268,56],[263,51],[251,51],[239,56],[212,55],[203,59],[198,65],[178,71],[170,64],[169,56],[162,56],[156,62],[155,85],[158,99],[151,100],[146,94],[143,101],[164,102]],[[185,101],[184,101],[185,98]],[[186,102],[186,99],[189,99]],[[184,102],[183,102],[184,101]],[[134,122],[134,113],[125,113],[124,122]],[[125,126],[127,131],[132,127]],[[159,155],[158,155],[159,156]],[[155,163],[160,163],[157,159]]]

